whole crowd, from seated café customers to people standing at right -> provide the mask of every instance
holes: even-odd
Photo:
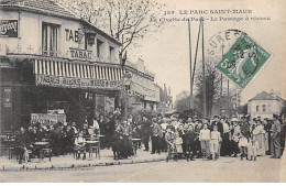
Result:
[[[279,158],[285,146],[285,122],[277,114],[273,119],[249,116],[240,119],[215,116],[209,119],[197,117],[163,118],[162,116],[139,116],[133,118],[119,114],[95,118],[94,123],[75,122],[45,125],[40,123],[21,128],[15,138],[15,151],[22,156],[30,151],[30,157],[38,156],[35,142],[47,141],[53,155],[74,152],[85,145],[85,139],[102,135],[101,149],[112,149],[114,160],[131,158],[134,145],[144,146],[151,154],[168,152],[175,158],[218,160],[220,156],[241,156],[256,161],[256,156],[270,155]],[[133,143],[132,140],[141,139]],[[151,149],[150,149],[151,142]],[[80,154],[77,158],[80,157]],[[84,153],[84,157],[86,154]]]

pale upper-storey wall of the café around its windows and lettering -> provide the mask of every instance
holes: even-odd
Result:
[[[64,18],[50,17],[44,14],[35,14],[26,11],[7,11],[0,10],[1,20],[20,20],[19,21],[19,39],[14,37],[0,37],[0,43],[8,44],[10,52],[18,52],[18,45],[21,47],[21,53],[36,53],[41,54],[40,50],[42,47],[42,22],[53,23],[59,25],[58,32],[58,52],[63,57],[69,56],[69,47],[85,50],[85,37],[81,42],[75,42],[73,40],[67,40],[67,34],[69,36],[70,32],[66,32],[66,29],[72,31],[75,39],[75,31],[79,31],[82,28],[79,21],[68,20]],[[80,33],[80,32],[79,32]],[[117,63],[119,64],[119,45],[112,42],[110,39],[96,34],[96,39],[103,41],[102,46],[102,58],[101,62],[106,63]],[[114,56],[112,61],[109,59],[109,46],[114,47]],[[88,50],[94,53],[94,61],[99,61],[97,56],[97,40],[94,45],[88,45]]]

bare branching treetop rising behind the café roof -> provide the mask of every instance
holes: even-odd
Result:
[[[151,0],[63,0],[70,10],[121,42],[119,57],[162,23],[154,20],[165,7]]]

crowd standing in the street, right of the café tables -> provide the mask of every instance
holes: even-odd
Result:
[[[195,157],[216,161],[220,156],[238,155],[241,160],[256,161],[257,156],[266,154],[279,158],[285,146],[285,122],[277,114],[273,114],[273,119],[257,117],[252,121],[249,114],[231,120],[215,116],[212,121],[197,117],[185,121],[143,117],[141,124],[145,151],[151,140],[152,154],[169,152],[175,146],[176,154],[188,161]]]

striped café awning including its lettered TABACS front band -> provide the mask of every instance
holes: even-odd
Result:
[[[36,85],[88,89],[120,89],[123,69],[105,64],[35,59]]]

